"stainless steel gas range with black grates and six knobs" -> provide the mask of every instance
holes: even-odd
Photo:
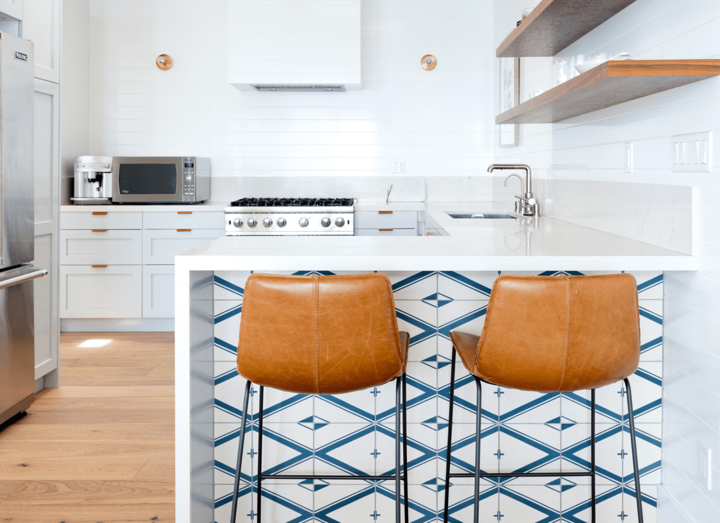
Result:
[[[225,207],[225,236],[351,236],[352,198],[242,198]]]

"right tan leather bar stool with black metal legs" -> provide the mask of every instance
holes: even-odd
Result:
[[[449,518],[451,478],[474,478],[474,523],[479,521],[480,478],[591,476],[595,522],[595,388],[624,380],[635,476],[638,521],[643,522],[635,422],[628,376],[640,358],[640,319],[635,278],[603,276],[500,276],[495,280],[482,336],[451,332],[448,454],[444,521]],[[477,384],[474,473],[450,473],[455,356]],[[590,471],[481,473],[481,383],[536,392],[590,393]]]

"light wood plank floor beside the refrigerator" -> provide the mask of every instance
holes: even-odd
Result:
[[[60,388],[0,432],[0,522],[174,522],[173,342],[61,335]]]

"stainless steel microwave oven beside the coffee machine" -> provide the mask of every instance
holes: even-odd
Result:
[[[112,158],[113,204],[195,204],[209,198],[210,158]]]

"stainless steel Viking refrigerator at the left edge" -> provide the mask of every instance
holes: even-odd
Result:
[[[32,43],[0,34],[0,423],[35,397]]]

